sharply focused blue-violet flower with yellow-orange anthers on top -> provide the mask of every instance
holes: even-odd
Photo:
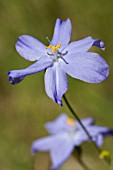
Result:
[[[71,31],[70,19],[57,19],[49,46],[32,36],[20,36],[16,50],[26,60],[36,62],[26,69],[9,71],[9,82],[13,85],[18,84],[27,75],[46,69],[45,91],[54,102],[62,105],[61,98],[68,89],[66,73],[88,83],[105,80],[109,74],[107,63],[99,54],[87,52],[92,46],[104,50],[103,41],[87,37],[69,43]]]

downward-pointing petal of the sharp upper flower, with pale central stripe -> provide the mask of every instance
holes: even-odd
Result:
[[[60,68],[59,63],[54,63],[53,67],[46,70],[45,90],[47,95],[54,102],[62,106],[62,95],[67,91],[68,82],[66,73]]]

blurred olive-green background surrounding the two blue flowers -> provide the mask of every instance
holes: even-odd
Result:
[[[108,79],[88,84],[68,76],[66,96],[80,118],[93,116],[98,125],[113,128],[113,1],[109,0],[0,0],[0,169],[49,170],[48,153],[31,154],[32,142],[47,134],[43,125],[60,113],[71,113],[55,104],[45,93],[44,72],[28,76],[16,86],[8,82],[9,70],[26,68],[31,62],[15,50],[20,35],[36,37],[46,45],[52,37],[56,18],[72,22],[71,40],[87,36],[102,39],[106,50],[96,47],[110,66]],[[84,143],[83,160],[91,170],[107,170],[92,144]],[[113,138],[102,146],[113,155]],[[82,170],[71,156],[61,170]]]

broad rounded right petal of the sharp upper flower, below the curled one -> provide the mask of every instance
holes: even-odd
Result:
[[[109,74],[106,61],[96,53],[84,52],[65,55],[68,64],[60,60],[62,69],[73,78],[88,83],[99,83]]]

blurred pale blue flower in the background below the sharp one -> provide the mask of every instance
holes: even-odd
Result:
[[[113,135],[112,129],[95,126],[93,118],[85,118],[81,121],[99,147],[102,145],[105,136]],[[68,118],[66,114],[61,114],[53,122],[46,123],[45,128],[51,135],[34,141],[32,153],[50,151],[52,170],[59,168],[76,146],[80,146],[84,141],[89,141],[79,123]]]

